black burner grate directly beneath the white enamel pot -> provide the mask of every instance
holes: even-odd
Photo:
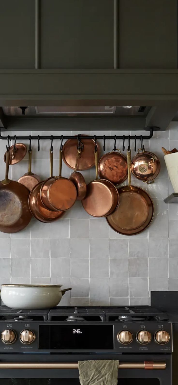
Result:
[[[0,306],[0,320],[10,320],[15,317],[24,316],[26,318],[32,318],[33,321],[47,321],[49,309],[43,310],[19,310],[11,309],[5,305]]]

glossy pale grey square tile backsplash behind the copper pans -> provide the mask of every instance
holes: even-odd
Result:
[[[71,132],[72,135],[77,133]],[[65,135],[66,132],[58,134]],[[5,172],[5,144],[0,141],[1,179]],[[121,144],[118,141],[117,148],[122,148]],[[40,152],[35,141],[32,145],[32,171],[45,179],[49,176],[50,143],[40,141]],[[54,174],[57,175],[59,141],[54,141],[53,145]],[[178,290],[178,205],[163,202],[173,189],[161,151],[162,146],[178,148],[178,124],[172,122],[167,131],[155,132],[150,141],[144,141],[144,146],[157,154],[161,162],[161,171],[154,184],[148,186],[132,177],[133,184],[146,189],[154,201],[154,219],[146,231],[131,238],[122,236],[109,228],[105,218],[90,217],[77,201],[57,222],[43,224],[32,219],[19,233],[0,233],[0,284],[60,283],[66,288],[71,286],[72,291],[64,295],[60,305],[147,305],[151,290]],[[135,154],[133,147],[131,142],[132,156]],[[112,148],[112,141],[106,141],[106,151]],[[18,180],[25,172],[27,155],[22,162],[10,167],[10,177]],[[63,163],[62,174],[67,177],[71,172]],[[83,175],[88,183],[94,179],[94,168],[84,171]]]

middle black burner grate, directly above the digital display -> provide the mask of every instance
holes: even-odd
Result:
[[[48,314],[48,321],[65,321],[67,317],[80,316],[86,321],[104,321],[104,311],[100,306],[57,306]],[[76,319],[77,320],[77,319]]]

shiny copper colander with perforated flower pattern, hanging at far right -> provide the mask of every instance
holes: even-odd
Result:
[[[160,172],[160,161],[153,152],[139,149],[131,163],[131,171],[137,179],[149,184]]]

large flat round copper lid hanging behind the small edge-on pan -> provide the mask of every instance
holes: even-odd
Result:
[[[94,139],[84,139],[85,135],[80,136],[84,147],[81,150],[81,155],[78,159],[77,170],[88,170],[94,166],[94,150],[95,150],[95,141]],[[63,156],[62,159],[64,163],[71,168],[75,169],[76,165],[76,156],[77,156],[77,139],[68,139],[63,146]],[[100,148],[97,144],[98,156],[100,155]]]

